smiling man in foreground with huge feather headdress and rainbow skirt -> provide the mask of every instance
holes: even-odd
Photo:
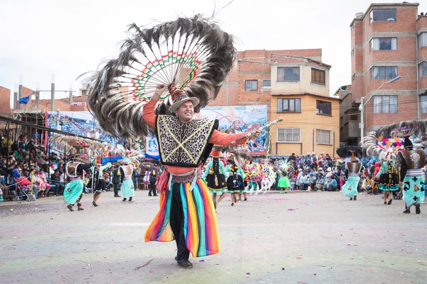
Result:
[[[179,266],[191,268],[190,252],[199,257],[219,251],[214,204],[197,168],[214,144],[231,145],[246,135],[221,133],[217,120],[193,119],[194,111],[215,99],[236,48],[231,35],[201,16],[153,28],[133,24],[130,31],[119,57],[90,82],[88,105],[113,136],[146,136],[147,126],[155,129],[164,165],[162,196],[145,241],[175,238]]]

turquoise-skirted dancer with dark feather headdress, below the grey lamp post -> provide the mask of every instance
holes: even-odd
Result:
[[[362,149],[357,146],[345,146],[337,148],[337,154],[342,158],[348,170],[348,179],[342,187],[342,193],[350,200],[357,200],[359,173],[362,169],[362,161],[359,160],[359,157],[362,156]]]

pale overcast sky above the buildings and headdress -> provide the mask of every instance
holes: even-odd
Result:
[[[216,0],[218,8],[231,0]],[[391,2],[390,0],[379,2]],[[236,36],[238,50],[322,48],[322,61],[332,65],[331,94],[351,82],[350,28],[354,13],[371,1],[234,0],[216,20]],[[211,15],[208,0],[0,0],[0,86],[14,92],[23,85],[50,89],[80,87],[75,79],[117,54],[128,24],[172,21],[194,13]],[[418,13],[427,12],[427,1]],[[42,98],[50,97],[42,93]],[[64,93],[57,93],[64,97]]]

